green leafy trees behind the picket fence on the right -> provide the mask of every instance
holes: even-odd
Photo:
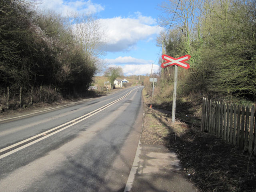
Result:
[[[162,8],[168,15],[177,3],[166,2]],[[255,18],[256,2],[251,0],[180,0],[175,26],[164,42],[170,56],[191,55],[190,69],[179,69],[180,96],[200,92],[256,99]],[[161,23],[168,23],[164,19]],[[161,73],[165,85],[173,81],[168,68]]]

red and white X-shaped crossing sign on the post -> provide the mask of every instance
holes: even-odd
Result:
[[[171,56],[168,55],[162,55],[162,59],[166,60],[166,62],[162,63],[161,67],[162,68],[166,68],[168,66],[172,66],[172,65],[178,65],[182,68],[188,69],[190,68],[188,63],[185,63],[184,61],[187,61],[191,58],[190,55],[185,55],[179,58],[173,58]]]

